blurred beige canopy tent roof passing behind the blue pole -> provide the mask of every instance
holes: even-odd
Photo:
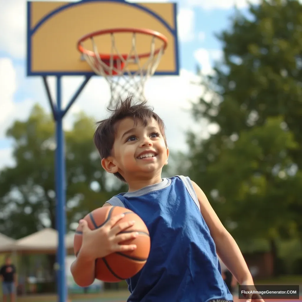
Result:
[[[65,237],[66,249],[73,249],[74,233]],[[29,253],[56,253],[58,247],[58,232],[51,228],[45,228],[24,238],[14,240],[6,245],[0,244],[0,252],[17,251]]]

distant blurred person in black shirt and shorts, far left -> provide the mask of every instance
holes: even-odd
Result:
[[[11,258],[5,258],[5,265],[0,268],[0,278],[2,281],[3,302],[6,302],[7,296],[10,296],[11,302],[15,302],[16,268],[11,264]]]

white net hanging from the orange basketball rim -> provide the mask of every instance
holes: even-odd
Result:
[[[109,59],[102,59],[98,48],[91,37],[94,56],[83,53],[83,58],[90,65],[92,70],[103,76],[110,85],[111,99],[109,108],[112,108],[118,98],[127,94],[134,94],[138,101],[144,101],[144,87],[147,79],[153,76],[164,52],[164,43],[162,47],[156,49],[155,42],[157,37],[152,36],[149,50],[149,57],[144,58],[143,63],[140,54],[137,53],[136,33],[132,33],[131,49],[127,56],[120,54],[115,43],[114,33],[111,36],[111,54]],[[131,72],[135,65],[135,72]]]

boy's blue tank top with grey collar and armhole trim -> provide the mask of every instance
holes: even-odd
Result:
[[[233,300],[188,177],[163,178],[158,184],[116,195],[108,203],[139,215],[150,234],[146,264],[126,280],[127,302]]]

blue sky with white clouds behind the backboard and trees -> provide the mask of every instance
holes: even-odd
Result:
[[[258,3],[258,0],[249,2]],[[14,120],[26,120],[36,103],[47,112],[50,112],[50,107],[42,79],[26,76],[26,1],[0,0],[0,3],[1,169],[14,165],[11,155],[13,141],[5,136],[8,127]],[[198,64],[204,74],[213,71],[214,62],[222,56],[222,45],[215,34],[229,27],[234,5],[244,12],[247,1],[179,0],[177,3],[180,75],[150,78],[146,83],[145,95],[154,111],[165,122],[170,150],[186,152],[185,132],[188,129],[193,129],[201,138],[206,138],[218,129],[206,121],[196,124],[190,114],[191,102],[197,101],[202,93],[202,87],[193,84],[198,81],[196,66]],[[82,81],[82,77],[63,78],[63,105],[68,103]],[[49,83],[54,96],[55,79],[50,77]],[[93,77],[66,114],[64,128],[72,127],[73,116],[79,111],[86,112],[95,120],[106,117],[109,93],[104,79]]]

